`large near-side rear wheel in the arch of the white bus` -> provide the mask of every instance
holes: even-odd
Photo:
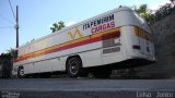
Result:
[[[67,73],[70,77],[78,77],[82,73],[82,62],[78,57],[70,58],[67,63]]]

